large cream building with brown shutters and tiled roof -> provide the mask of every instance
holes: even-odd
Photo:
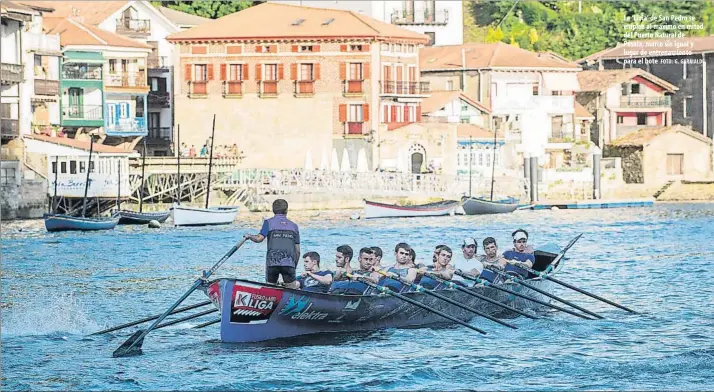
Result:
[[[200,149],[215,113],[249,167],[374,169],[379,123],[419,121],[429,92],[428,37],[349,11],[264,3],[168,40],[181,142]]]

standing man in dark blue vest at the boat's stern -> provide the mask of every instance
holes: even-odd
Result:
[[[243,237],[260,243],[268,239],[268,251],[265,261],[265,281],[278,283],[278,276],[283,278],[285,287],[296,289],[295,267],[300,257],[300,230],[287,218],[288,202],[276,199],[273,202],[272,218],[263,221],[258,234],[245,234]]]

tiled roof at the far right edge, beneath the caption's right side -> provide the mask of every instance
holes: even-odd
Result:
[[[652,43],[663,43],[667,42],[670,46],[664,47],[664,46],[647,46],[648,44]],[[681,46],[672,46],[672,45],[677,45],[679,44],[686,44],[686,46],[682,49]],[[647,56],[633,56],[631,54],[625,54],[625,50],[627,51],[640,51],[640,50],[645,50],[648,52]],[[642,41],[629,41],[627,44],[620,43],[614,48],[608,48],[605,50],[601,50],[599,52],[593,53],[590,56],[584,57],[580,60],[578,60],[578,63],[582,62],[591,62],[591,61],[597,61],[600,59],[617,59],[617,58],[639,58],[639,57],[664,57],[664,56],[672,56],[672,54],[667,54],[667,53],[657,53],[657,52],[667,52],[667,51],[674,51],[674,50],[686,50],[690,51],[692,53],[712,53],[714,52],[714,35],[710,35],[707,37],[684,37],[684,38],[667,38],[667,39],[651,39],[651,40],[642,40]]]

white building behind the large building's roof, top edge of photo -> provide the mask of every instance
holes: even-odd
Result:
[[[426,34],[430,45],[464,43],[461,1],[454,0],[269,0],[271,3],[358,12],[382,22]]]

